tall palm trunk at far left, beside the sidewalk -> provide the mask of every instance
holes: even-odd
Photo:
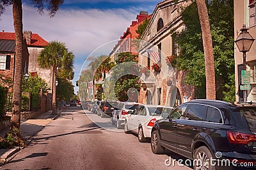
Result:
[[[22,58],[24,52],[22,31],[22,3],[13,0],[13,25],[15,30],[15,69],[13,80],[13,108],[12,127],[20,128],[21,84],[22,84]]]

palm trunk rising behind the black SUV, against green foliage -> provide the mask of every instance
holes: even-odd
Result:
[[[210,29],[209,15],[205,0],[196,0],[200,25],[202,30],[202,39],[204,46],[205,58],[205,77],[206,77],[206,98],[216,99],[216,85],[215,85],[215,66],[212,49],[212,35]]]

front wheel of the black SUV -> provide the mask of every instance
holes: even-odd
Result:
[[[162,154],[164,153],[164,148],[160,144],[160,136],[157,130],[154,130],[151,135],[151,150],[155,154]]]

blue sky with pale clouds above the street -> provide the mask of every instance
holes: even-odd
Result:
[[[31,1],[22,1],[23,30],[32,31],[48,42],[58,40],[66,43],[75,54],[72,80],[76,85],[84,60],[97,47],[118,40],[140,11],[149,14],[157,3],[154,0],[65,0],[56,16],[47,12],[40,15]],[[13,32],[12,6],[1,16],[0,29]],[[77,92],[77,87],[74,89]]]

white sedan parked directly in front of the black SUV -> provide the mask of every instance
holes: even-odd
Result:
[[[125,118],[125,133],[134,132],[138,134],[140,142],[147,141],[151,137],[151,130],[157,120],[164,119],[170,114],[173,107],[163,105],[143,105],[140,104],[136,109]]]

